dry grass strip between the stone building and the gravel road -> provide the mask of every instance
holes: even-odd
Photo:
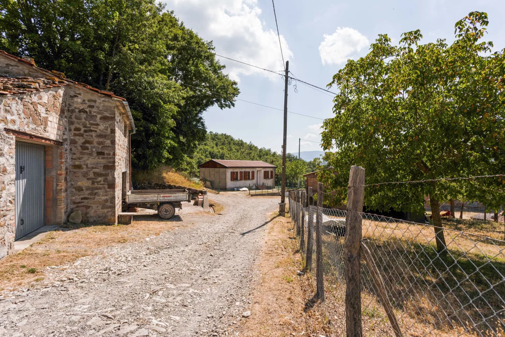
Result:
[[[145,220],[134,221],[131,225],[66,225],[47,233],[17,254],[0,260],[0,289],[40,281],[46,267],[101,254],[108,246],[144,240],[174,227],[171,221]]]

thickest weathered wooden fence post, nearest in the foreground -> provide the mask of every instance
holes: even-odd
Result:
[[[365,169],[351,166],[345,216],[345,324],[347,337],[361,337],[360,243],[362,238]],[[319,197],[318,197],[319,201]]]

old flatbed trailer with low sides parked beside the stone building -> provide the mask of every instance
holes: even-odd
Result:
[[[182,208],[182,201],[190,201],[187,190],[131,190],[126,193],[125,205],[154,209],[160,218],[170,219],[175,208]]]

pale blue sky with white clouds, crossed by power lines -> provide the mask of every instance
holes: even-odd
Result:
[[[165,0],[187,27],[213,40],[218,54],[260,67],[282,70],[271,0]],[[284,59],[299,79],[325,87],[348,58],[367,54],[377,34],[397,43],[402,32],[421,29],[423,42],[454,39],[454,24],[471,11],[488,14],[485,39],[494,50],[505,48],[505,1],[298,1],[275,0]],[[239,81],[239,99],[283,108],[281,76],[226,59],[226,72]],[[294,92],[296,84],[297,93]],[[330,89],[335,91],[336,89]],[[291,83],[288,110],[319,118],[332,117],[332,97]],[[237,101],[234,108],[213,107],[204,113],[208,131],[226,133],[280,152],[282,111]],[[288,114],[288,152],[298,138],[320,141],[321,119]],[[320,150],[302,142],[302,151]]]

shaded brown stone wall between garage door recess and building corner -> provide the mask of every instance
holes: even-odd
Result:
[[[69,213],[81,210],[87,222],[117,223],[116,103],[110,97],[67,86]]]

